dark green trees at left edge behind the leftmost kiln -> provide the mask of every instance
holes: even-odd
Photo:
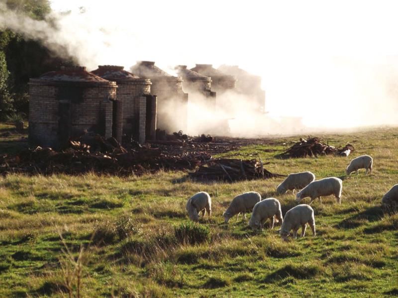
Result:
[[[4,0],[0,0],[4,1]],[[43,20],[51,11],[49,0],[5,0],[9,9]],[[29,78],[73,64],[58,57],[40,42],[11,30],[0,31],[0,120],[12,112],[28,113]]]

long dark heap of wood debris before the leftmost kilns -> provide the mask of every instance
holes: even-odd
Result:
[[[164,170],[192,170],[211,155],[204,151],[153,148],[131,143],[121,146],[114,138],[84,135],[70,141],[60,151],[52,148],[30,148],[15,155],[0,156],[0,173],[50,175],[95,172],[119,176],[141,175]]]

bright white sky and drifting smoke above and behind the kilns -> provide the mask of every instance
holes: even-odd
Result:
[[[129,69],[137,60],[153,60],[175,74],[178,64],[225,63],[263,78],[269,114],[254,114],[250,99],[242,96],[217,97],[223,106],[217,110],[197,97],[190,100],[189,133],[200,133],[208,119],[229,119],[232,134],[239,136],[297,132],[297,123],[281,116],[302,117],[312,130],[398,124],[394,1],[377,6],[343,1],[126,2],[54,0],[45,21],[0,3],[0,29],[39,40],[88,69],[100,64]]]

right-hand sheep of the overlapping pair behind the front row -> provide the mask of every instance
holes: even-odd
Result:
[[[301,191],[299,191],[296,195],[296,202],[300,202],[302,199],[310,197],[311,203],[314,199],[319,198],[320,202],[321,196],[330,196],[334,195],[337,199],[337,202],[341,204],[341,190],[343,188],[343,182],[341,179],[336,177],[324,178],[321,180],[312,181],[306,187],[304,187]]]

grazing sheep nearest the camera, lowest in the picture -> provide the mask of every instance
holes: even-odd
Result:
[[[301,226],[301,237],[304,237],[307,223],[311,227],[312,236],[315,237],[316,233],[314,210],[311,208],[310,205],[297,205],[290,209],[288,212],[286,212],[279,233],[281,234],[282,239],[287,241],[290,231],[293,230],[293,238],[297,239],[297,232],[299,227]]]

